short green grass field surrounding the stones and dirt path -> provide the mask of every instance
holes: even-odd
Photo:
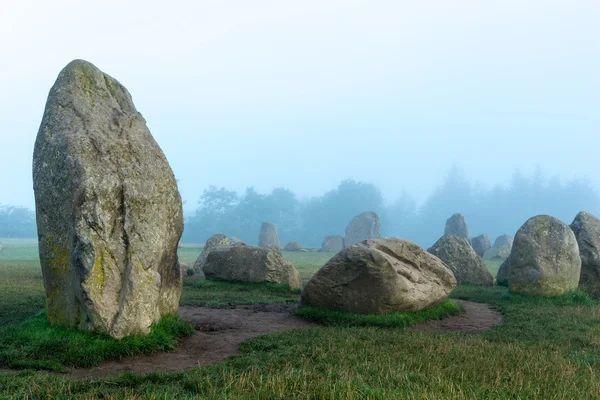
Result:
[[[0,338],[44,307],[35,241],[2,240]],[[181,259],[193,263],[198,246]],[[330,254],[284,253],[303,279]],[[499,263],[489,263],[495,274]],[[35,371],[0,373],[0,398],[171,399],[598,399],[600,307],[581,292],[553,299],[505,288],[459,286],[452,297],[486,302],[502,325],[483,334],[322,327],[259,336],[226,362],[182,373],[73,381]],[[182,304],[297,301],[278,286],[185,279]],[[4,349],[0,348],[0,351]],[[1,368],[1,366],[0,366]]]

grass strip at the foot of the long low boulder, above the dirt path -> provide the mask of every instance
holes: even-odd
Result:
[[[199,280],[185,282],[181,305],[223,307],[241,304],[297,303],[299,289],[277,283]]]

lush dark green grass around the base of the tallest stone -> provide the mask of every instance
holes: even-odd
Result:
[[[71,367],[90,367],[104,360],[173,350],[177,340],[194,328],[178,315],[164,316],[147,336],[116,340],[100,333],[52,326],[45,312],[3,332],[0,366],[65,372]]]

